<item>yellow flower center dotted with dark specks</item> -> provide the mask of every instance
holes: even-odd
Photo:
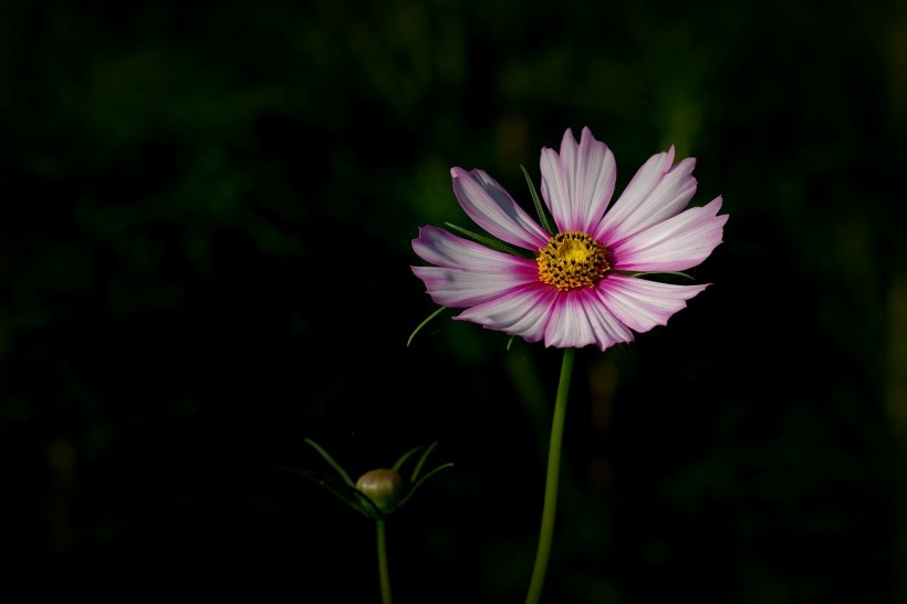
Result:
[[[594,288],[611,271],[608,249],[580,231],[559,232],[539,250],[539,281],[561,291]]]

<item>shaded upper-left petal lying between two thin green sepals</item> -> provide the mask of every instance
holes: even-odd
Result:
[[[454,192],[463,211],[501,241],[536,251],[550,236],[525,212],[497,180],[483,170],[451,168]]]

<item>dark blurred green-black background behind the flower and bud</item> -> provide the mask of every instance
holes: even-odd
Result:
[[[907,602],[907,6],[0,1],[0,597],[522,602],[561,352],[435,306],[451,166],[695,156],[712,283],[576,355],[546,602]]]

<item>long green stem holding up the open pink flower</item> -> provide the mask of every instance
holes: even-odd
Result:
[[[539,533],[539,550],[535,567],[529,584],[527,604],[536,604],[542,597],[548,561],[551,558],[551,542],[554,535],[554,517],[557,511],[557,481],[561,476],[561,449],[564,440],[564,418],[570,395],[570,376],[573,373],[574,348],[564,348],[561,364],[561,381],[557,383],[557,398],[554,400],[554,417],[551,421],[551,444],[548,450],[548,476],[545,478],[545,501],[542,510],[542,529]]]

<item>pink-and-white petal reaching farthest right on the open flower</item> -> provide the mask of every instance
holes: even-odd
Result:
[[[621,271],[685,271],[702,262],[722,241],[728,215],[717,216],[721,197],[689,208],[611,248]]]

